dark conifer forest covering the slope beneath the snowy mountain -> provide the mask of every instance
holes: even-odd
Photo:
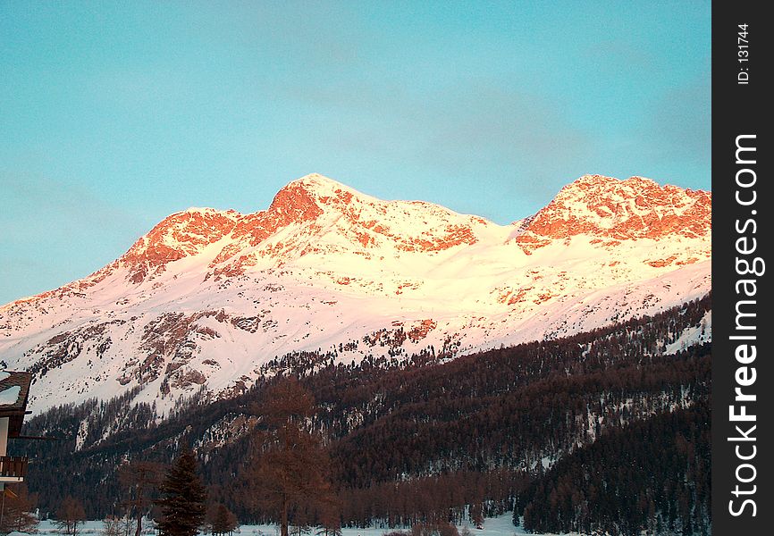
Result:
[[[164,418],[132,402],[139,389],[52,409],[24,433],[61,440],[12,449],[32,458],[29,491],[52,516],[67,495],[92,519],[157,514],[153,474],[190,449],[223,523],[231,513],[240,523],[285,516],[335,533],[342,525],[475,523],[513,510],[532,532],[709,534],[710,345],[670,355],[664,348],[710,308],[704,297],[450,361],[285,356],[247,393],[217,401],[198,393]],[[289,399],[307,406],[276,407],[288,378],[298,389]],[[291,443],[306,445],[305,464],[315,466],[303,482],[287,483],[299,499],[248,499],[262,478],[285,482],[265,462],[290,467]],[[137,478],[146,476],[126,476],[139,466],[156,467],[144,487]]]

